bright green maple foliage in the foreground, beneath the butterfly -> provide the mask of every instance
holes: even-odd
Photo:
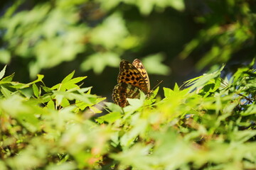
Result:
[[[253,64],[253,63],[252,63]],[[48,88],[0,72],[0,169],[254,169],[256,74],[223,67],[120,108],[73,73]],[[40,85],[40,86],[39,86]]]

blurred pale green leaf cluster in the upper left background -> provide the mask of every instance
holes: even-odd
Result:
[[[13,57],[22,58],[33,78],[41,69],[75,60],[78,55],[85,58],[80,64],[83,71],[93,69],[100,74],[106,66],[117,67],[119,57],[143,41],[141,35],[129,32],[122,12],[111,12],[121,2],[57,0],[21,10],[23,1],[16,1],[0,19],[0,62],[8,64]],[[136,5],[144,14],[154,6],[183,9],[182,1],[128,4]]]

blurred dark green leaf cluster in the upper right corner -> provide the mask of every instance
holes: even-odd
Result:
[[[186,58],[192,52],[205,49],[200,55],[197,68],[202,69],[212,63],[222,64],[232,57],[255,57],[255,2],[254,1],[204,1],[201,13],[195,21],[205,26],[186,45],[180,57]]]

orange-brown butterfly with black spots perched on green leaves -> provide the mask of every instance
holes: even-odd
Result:
[[[112,94],[114,103],[125,107],[129,105],[127,98],[139,98],[139,90],[149,94],[149,75],[139,59],[135,59],[132,64],[122,60],[119,69],[117,85]]]

